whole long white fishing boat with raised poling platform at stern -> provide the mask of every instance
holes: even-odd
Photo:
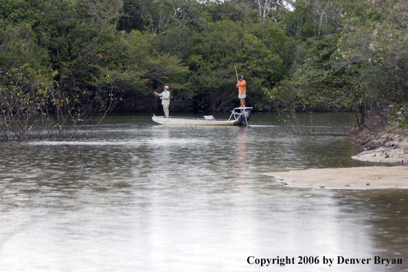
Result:
[[[252,107],[235,108],[229,119],[216,119],[212,115],[203,117],[173,117],[152,116],[152,120],[162,125],[172,126],[239,126],[247,125],[251,117]]]

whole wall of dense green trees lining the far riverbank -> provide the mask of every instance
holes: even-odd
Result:
[[[164,84],[172,111],[225,111],[236,70],[258,111],[406,126],[407,25],[402,0],[2,0],[0,127],[74,132],[95,112],[161,111]]]

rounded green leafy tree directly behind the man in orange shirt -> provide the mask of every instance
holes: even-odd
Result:
[[[268,32],[262,27],[256,30],[255,26],[225,19],[209,23],[201,32],[202,39],[189,60],[194,71],[192,86],[197,91],[196,100],[202,101],[196,104],[198,109],[231,108],[236,98],[235,67],[248,82],[247,92],[251,93],[248,102],[253,104],[262,100],[262,88],[270,88],[271,82],[282,78],[282,59],[273,47],[277,31],[271,28]],[[269,41],[256,35],[269,35]]]

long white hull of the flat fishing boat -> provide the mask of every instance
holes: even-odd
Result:
[[[152,120],[162,125],[170,126],[238,126],[239,120],[214,119],[205,120],[204,118],[194,117],[164,117],[153,116]]]

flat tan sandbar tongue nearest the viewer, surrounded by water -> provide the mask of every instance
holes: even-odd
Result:
[[[408,189],[408,166],[370,166],[268,172],[268,176],[297,188],[367,190]]]

